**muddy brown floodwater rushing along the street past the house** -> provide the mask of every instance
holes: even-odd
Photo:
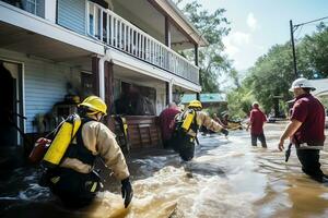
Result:
[[[249,133],[238,130],[227,138],[200,136],[190,162],[167,150],[130,155],[134,198],[128,209],[119,182],[108,175],[104,186],[110,192],[99,192],[90,207],[70,210],[37,184],[38,169],[2,170],[0,217],[328,217],[328,185],[301,172],[294,149],[288,164],[277,149],[284,125],[266,125],[267,149],[251,147]],[[320,159],[328,173],[325,150]]]

